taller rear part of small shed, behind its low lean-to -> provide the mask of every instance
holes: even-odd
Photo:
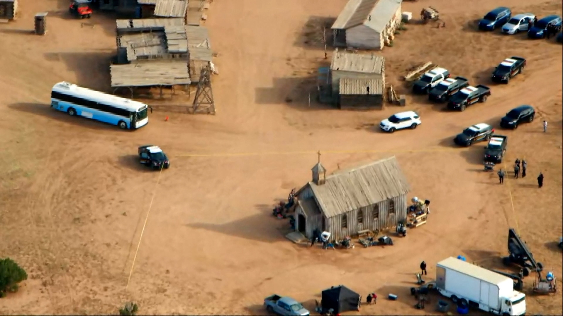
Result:
[[[373,79],[385,88],[385,58],[371,54],[339,51],[332,55],[330,83],[333,96],[340,94],[341,79]]]

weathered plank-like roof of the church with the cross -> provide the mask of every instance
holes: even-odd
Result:
[[[309,182],[325,216],[332,217],[406,194],[410,186],[395,156]]]

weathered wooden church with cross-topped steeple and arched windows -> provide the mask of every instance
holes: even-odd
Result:
[[[312,238],[316,229],[341,240],[363,231],[394,227],[406,219],[410,186],[395,157],[327,177],[323,165],[296,192],[296,231]]]

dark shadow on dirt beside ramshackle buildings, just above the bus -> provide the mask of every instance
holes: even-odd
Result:
[[[69,71],[75,73],[77,85],[97,91],[111,93],[109,65],[113,51],[94,52],[52,52],[44,53],[47,61],[63,62]]]

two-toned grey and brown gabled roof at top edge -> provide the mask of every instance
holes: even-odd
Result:
[[[349,0],[332,25],[332,29],[349,29],[364,24],[383,31],[403,0]]]

